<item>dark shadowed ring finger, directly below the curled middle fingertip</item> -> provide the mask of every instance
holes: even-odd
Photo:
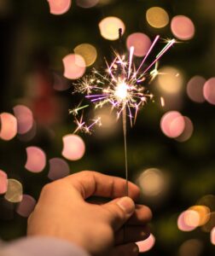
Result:
[[[128,243],[131,241],[142,241],[150,236],[148,226],[127,226],[115,233],[115,245]]]

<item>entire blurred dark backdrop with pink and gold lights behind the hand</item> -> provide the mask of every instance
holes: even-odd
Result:
[[[148,85],[154,100],[127,134],[129,179],[154,212],[139,246],[143,255],[214,255],[214,9],[214,0],[0,1],[1,239],[25,236],[45,183],[82,170],[125,177],[121,120],[98,108],[88,119],[99,114],[102,126],[74,135],[69,109],[83,96],[73,85],[105,69],[113,49],[128,55],[135,46],[140,63],[160,35],[148,64],[166,39],[178,44],[162,57]]]

